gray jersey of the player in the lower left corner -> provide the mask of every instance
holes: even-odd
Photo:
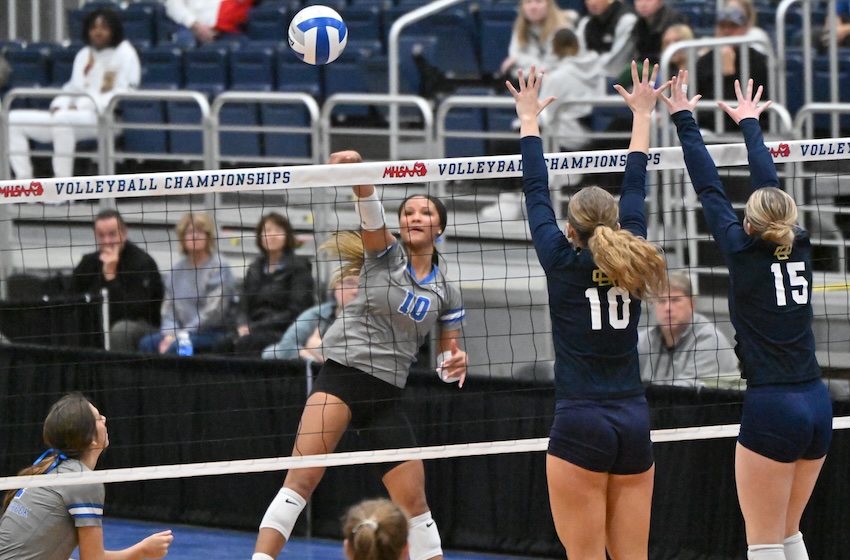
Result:
[[[66,459],[53,472],[89,472]],[[77,527],[101,527],[103,484],[22,488],[0,518],[0,560],[68,560]]]

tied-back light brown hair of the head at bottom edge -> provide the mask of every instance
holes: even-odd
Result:
[[[353,560],[399,560],[407,545],[407,516],[387,499],[366,500],[342,518]]]

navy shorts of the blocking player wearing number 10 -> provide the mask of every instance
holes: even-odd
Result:
[[[548,453],[594,472],[646,472],[653,463],[646,397],[559,399]]]

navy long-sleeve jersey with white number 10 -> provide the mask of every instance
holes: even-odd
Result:
[[[641,302],[611,285],[588,249],[577,250],[555,220],[543,144],[521,141],[523,190],[537,258],[546,272],[555,345],[555,398],[618,398],[643,393],[637,354]],[[628,155],[620,225],[646,236],[646,163]]]

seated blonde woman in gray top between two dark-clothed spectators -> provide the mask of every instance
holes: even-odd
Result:
[[[142,352],[177,353],[177,333],[186,331],[194,352],[209,352],[226,336],[234,279],[216,252],[215,225],[204,213],[189,212],[177,224],[180,253],[165,281],[160,332],[144,337]]]

